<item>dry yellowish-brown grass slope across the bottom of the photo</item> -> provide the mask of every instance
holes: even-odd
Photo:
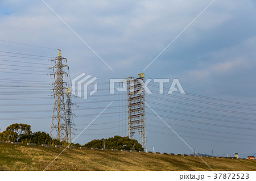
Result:
[[[0,143],[0,170],[44,170],[63,148]],[[256,161],[201,157],[213,170],[256,170]],[[47,170],[209,170],[199,157],[66,149]]]

